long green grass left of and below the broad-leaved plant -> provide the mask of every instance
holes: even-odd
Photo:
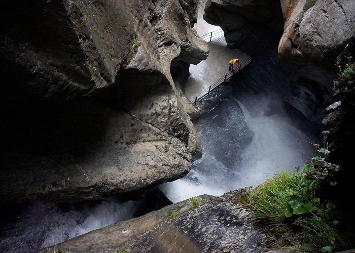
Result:
[[[282,172],[260,187],[248,191],[245,205],[254,209],[254,216],[265,222],[275,238],[292,235],[294,241],[275,246],[300,252],[331,251],[339,236],[321,207],[316,212],[300,217],[285,216],[290,201],[287,190],[298,187],[298,181],[295,174]]]

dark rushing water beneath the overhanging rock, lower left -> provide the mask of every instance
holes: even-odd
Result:
[[[32,203],[13,220],[5,221],[0,229],[0,252],[35,252],[94,229],[131,219],[138,206],[136,201]]]

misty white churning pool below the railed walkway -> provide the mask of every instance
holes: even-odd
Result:
[[[223,89],[231,94],[231,87]],[[293,170],[311,155],[310,138],[288,119],[280,101],[261,95],[244,99],[248,107],[233,95],[215,101],[195,122],[203,156],[187,177],[161,186],[171,201],[255,186],[279,171]]]

